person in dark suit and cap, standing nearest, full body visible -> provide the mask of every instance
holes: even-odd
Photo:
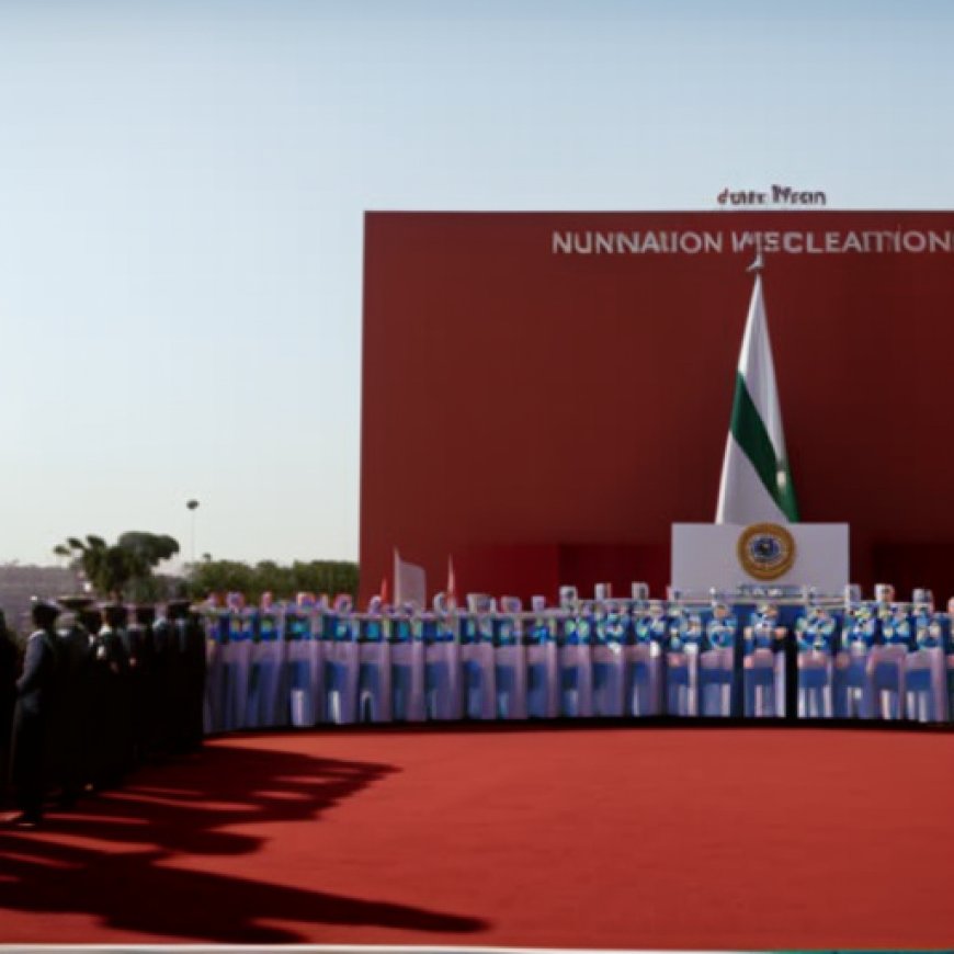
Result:
[[[31,828],[43,818],[48,724],[56,705],[59,671],[54,629],[59,609],[54,603],[36,600],[32,615],[36,629],[26,643],[23,673],[16,680],[12,762],[13,794],[21,811],[13,821]]]

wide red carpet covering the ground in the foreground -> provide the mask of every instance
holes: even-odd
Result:
[[[0,832],[0,942],[939,947],[954,735],[245,736]]]

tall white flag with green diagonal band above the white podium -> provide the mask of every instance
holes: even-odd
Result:
[[[749,269],[754,271],[756,282],[736,373],[716,523],[798,521],[762,299],[761,268],[759,258]]]

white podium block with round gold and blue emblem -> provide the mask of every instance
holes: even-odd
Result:
[[[670,580],[683,593],[814,587],[841,594],[848,565],[847,523],[672,525]]]

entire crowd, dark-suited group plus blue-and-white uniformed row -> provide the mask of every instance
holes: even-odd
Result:
[[[954,718],[954,601],[475,594],[355,612],[302,593],[132,610],[36,600],[22,660],[0,614],[0,802],[121,784],[205,732],[355,722],[736,716]],[[634,593],[634,597],[637,594]],[[9,785],[7,784],[9,780]]]

